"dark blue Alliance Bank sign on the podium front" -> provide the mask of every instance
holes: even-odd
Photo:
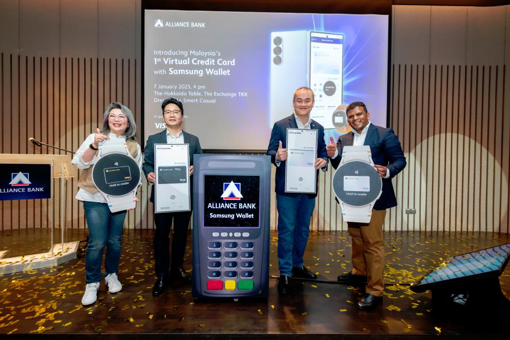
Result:
[[[0,165],[0,201],[51,198],[51,184],[49,164]]]

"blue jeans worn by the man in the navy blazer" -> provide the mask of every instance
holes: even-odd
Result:
[[[315,197],[276,195],[278,210],[278,269],[292,276],[292,267],[303,265],[304,248],[310,234]]]

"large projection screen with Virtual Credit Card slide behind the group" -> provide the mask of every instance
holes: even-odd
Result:
[[[388,15],[144,11],[144,138],[165,128],[161,103],[184,106],[183,129],[203,149],[265,150],[293,114],[294,90],[313,89],[325,140],[350,132],[361,100],[386,126]]]

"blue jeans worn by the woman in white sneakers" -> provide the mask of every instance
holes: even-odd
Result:
[[[85,254],[85,282],[99,282],[105,247],[105,276],[119,272],[122,226],[126,211],[112,213],[108,204],[89,201],[83,202],[83,208],[89,229],[89,242]]]

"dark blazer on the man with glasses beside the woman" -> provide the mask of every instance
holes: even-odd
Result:
[[[145,152],[143,158],[142,170],[145,174],[145,178],[151,172],[154,172],[154,144],[166,144],[166,133],[167,129],[165,128],[162,132],[157,133],[155,135],[150,135],[147,138],[147,144],[145,144]],[[188,134],[183,131],[184,144],[189,144],[189,158],[190,158],[190,166],[193,165],[193,154],[202,153],[202,148],[200,147],[200,142],[196,136]],[[190,177],[190,193],[193,195],[193,177]],[[154,185],[150,191],[150,201],[154,203]]]

